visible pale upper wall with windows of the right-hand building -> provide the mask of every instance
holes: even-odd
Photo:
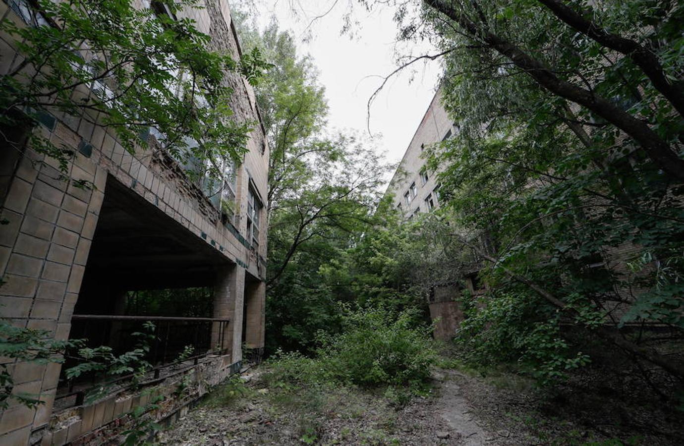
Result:
[[[440,91],[432,98],[387,187],[386,194],[393,194],[395,207],[407,219],[421,212],[430,212],[440,205],[437,172],[425,166],[427,159],[423,155],[425,148],[449,139],[458,131],[440,103]]]

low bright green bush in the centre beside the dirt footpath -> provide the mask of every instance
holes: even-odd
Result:
[[[415,326],[415,315],[384,309],[347,311],[343,330],[320,334],[317,356],[276,352],[265,380],[273,386],[342,383],[363,387],[425,388],[437,354],[430,327]]]

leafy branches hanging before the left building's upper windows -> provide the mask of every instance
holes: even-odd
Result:
[[[153,127],[174,157],[206,160],[211,172],[222,159],[239,158],[252,123],[231,117],[226,76],[256,83],[267,64],[256,49],[239,61],[208,49],[211,38],[191,19],[176,17],[187,8],[200,6],[197,0],[153,1],[151,8],[130,0],[39,0],[25,10],[27,25],[5,19],[0,29],[21,57],[0,77],[3,129],[25,125],[26,118],[35,125],[47,113],[114,129],[131,152],[147,146]],[[22,141],[3,137],[23,149]],[[198,148],[187,149],[190,140]],[[63,170],[73,156],[40,132],[31,133],[30,145]]]

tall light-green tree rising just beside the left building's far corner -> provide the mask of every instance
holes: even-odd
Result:
[[[387,167],[367,140],[326,129],[324,88],[291,34],[233,14],[244,46],[273,62],[257,88],[271,148],[267,348],[307,349],[341,316],[319,268],[371,227]]]

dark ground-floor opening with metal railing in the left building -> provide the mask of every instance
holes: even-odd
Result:
[[[70,339],[119,355],[137,347],[135,333],[149,331],[153,366],[208,352],[219,323],[211,320],[216,272],[228,266],[206,241],[109,176]],[[62,367],[63,389],[74,384],[64,380],[71,362]]]

